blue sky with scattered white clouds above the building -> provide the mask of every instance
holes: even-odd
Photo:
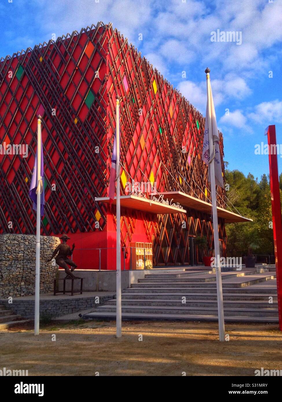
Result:
[[[282,0],[2,0],[0,18],[0,57],[111,22],[203,114],[208,66],[228,167],[269,172],[254,151],[269,124],[282,144]],[[218,29],[242,43],[212,42]]]

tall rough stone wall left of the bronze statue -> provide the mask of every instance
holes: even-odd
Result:
[[[60,244],[55,236],[40,236],[40,293],[53,289],[58,266],[46,259]],[[0,234],[0,297],[34,295],[36,236]]]

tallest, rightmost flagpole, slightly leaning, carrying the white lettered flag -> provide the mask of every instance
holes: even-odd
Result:
[[[208,128],[209,128],[209,146],[210,156],[214,155],[214,142],[212,131],[212,104],[211,104],[211,91],[210,91],[210,69],[206,68],[206,80],[207,80],[207,96],[208,96]],[[218,133],[216,133],[217,135]],[[222,280],[221,280],[221,267],[220,267],[220,247],[218,238],[218,218],[216,208],[216,185],[214,174],[214,158],[209,163],[210,167],[210,191],[212,197],[212,222],[214,227],[214,254],[216,257],[216,291],[217,291],[217,309],[218,309],[218,332],[219,340],[225,340],[224,329],[224,313],[223,313],[223,296],[222,296]]]

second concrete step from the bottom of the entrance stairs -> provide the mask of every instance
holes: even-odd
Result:
[[[105,304],[98,306],[97,311],[115,312],[115,306]],[[198,314],[198,315],[214,315],[217,314],[216,307],[186,307],[186,306],[122,306],[122,312],[126,313],[144,313],[144,314]],[[262,316],[278,316],[276,308],[224,308],[224,316],[237,315],[247,317],[262,317]]]

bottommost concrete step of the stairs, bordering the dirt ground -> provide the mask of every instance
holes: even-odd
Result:
[[[99,312],[84,314],[86,320],[114,320],[116,319],[115,312]],[[218,321],[217,315],[196,315],[196,314],[153,314],[153,313],[125,313],[121,314],[122,320],[171,320],[171,321]],[[244,317],[244,316],[225,316],[225,322],[268,322],[277,323],[278,316],[268,317]]]

